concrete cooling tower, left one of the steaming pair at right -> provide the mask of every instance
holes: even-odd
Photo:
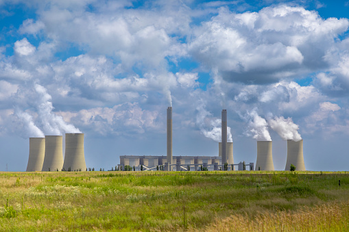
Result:
[[[274,171],[272,141],[257,141],[256,170]]]

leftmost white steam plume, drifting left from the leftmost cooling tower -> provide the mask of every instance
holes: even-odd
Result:
[[[43,131],[41,131],[36,125],[34,124],[33,117],[28,114],[27,112],[23,112],[19,107],[14,107],[14,113],[19,118],[21,123],[23,123],[23,127],[26,131],[26,133],[21,133],[23,136],[27,138],[34,137],[34,138],[45,138],[45,135]]]

